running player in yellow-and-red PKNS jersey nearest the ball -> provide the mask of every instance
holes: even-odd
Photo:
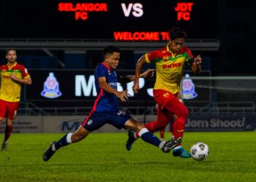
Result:
[[[170,122],[173,115],[176,120],[173,122],[173,138],[183,136],[185,123],[187,121],[188,109],[181,103],[177,96],[179,95],[179,85],[184,74],[185,63],[188,63],[195,74],[201,71],[202,58],[197,55],[193,57],[189,48],[183,44],[187,34],[181,28],[172,28],[169,31],[170,41],[167,47],[153,52],[146,53],[138,60],[135,70],[135,82],[132,87],[135,93],[139,90],[139,74],[144,63],[154,63],[156,65],[157,79],[154,84],[154,100],[158,107],[157,121],[148,122],[146,128],[150,132],[162,130]],[[127,141],[127,150],[132,149],[132,143],[138,138],[137,133],[129,131]],[[173,156],[188,158],[191,155],[181,146],[173,149]]]

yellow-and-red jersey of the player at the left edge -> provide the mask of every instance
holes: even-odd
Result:
[[[15,74],[19,79],[27,79],[30,76],[27,69],[18,63],[11,67],[8,65],[0,66],[0,99],[8,102],[18,102],[20,101],[21,84],[13,81],[10,76],[11,74]]]

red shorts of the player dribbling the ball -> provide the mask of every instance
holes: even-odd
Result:
[[[171,92],[166,90],[153,90],[154,100],[159,104],[159,106],[163,109],[165,108],[166,103],[168,103],[173,98],[176,98],[176,95],[173,95]],[[176,98],[177,99],[177,98]]]

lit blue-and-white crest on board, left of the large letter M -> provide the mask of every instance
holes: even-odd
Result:
[[[42,90],[41,95],[45,98],[59,98],[62,95],[59,91],[59,82],[52,72],[49,73],[44,83],[44,90]]]

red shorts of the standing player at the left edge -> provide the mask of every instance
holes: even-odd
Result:
[[[15,119],[20,102],[8,102],[0,99],[0,117]]]

